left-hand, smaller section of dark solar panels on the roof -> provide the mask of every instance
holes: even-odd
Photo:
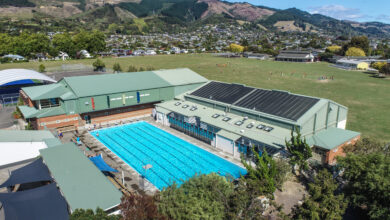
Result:
[[[254,89],[238,84],[210,82],[191,93],[191,95],[233,104],[252,90]]]

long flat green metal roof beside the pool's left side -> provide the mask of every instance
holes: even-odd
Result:
[[[122,193],[73,143],[40,150],[62,194],[77,208],[107,210],[120,204]]]

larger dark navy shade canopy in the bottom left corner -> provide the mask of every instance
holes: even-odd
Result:
[[[66,201],[55,183],[26,191],[0,193],[0,203],[7,220],[69,219]]]

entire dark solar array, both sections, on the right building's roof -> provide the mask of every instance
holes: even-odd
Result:
[[[319,101],[317,98],[294,95],[284,91],[254,89],[220,82],[211,82],[194,91],[191,95],[294,121],[298,120]]]

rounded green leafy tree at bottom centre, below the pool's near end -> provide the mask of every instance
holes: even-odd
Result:
[[[218,174],[195,175],[180,187],[163,189],[159,211],[169,219],[224,219],[233,190],[233,184]]]

